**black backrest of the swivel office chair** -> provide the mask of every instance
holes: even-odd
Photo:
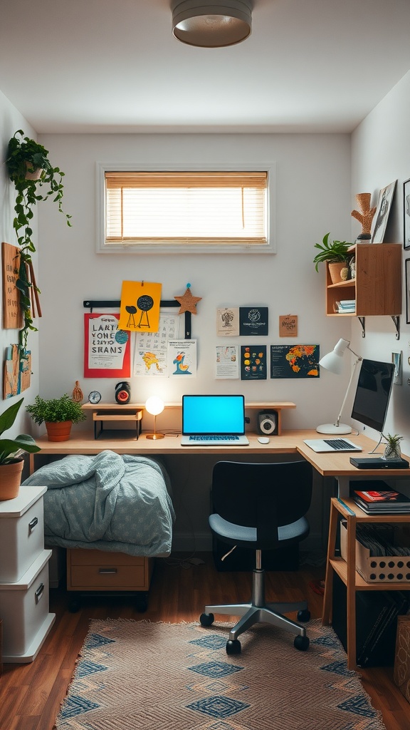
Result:
[[[309,510],[312,479],[308,461],[218,461],[212,472],[214,511],[228,522],[255,527],[258,540],[276,542],[278,527],[296,522]]]

